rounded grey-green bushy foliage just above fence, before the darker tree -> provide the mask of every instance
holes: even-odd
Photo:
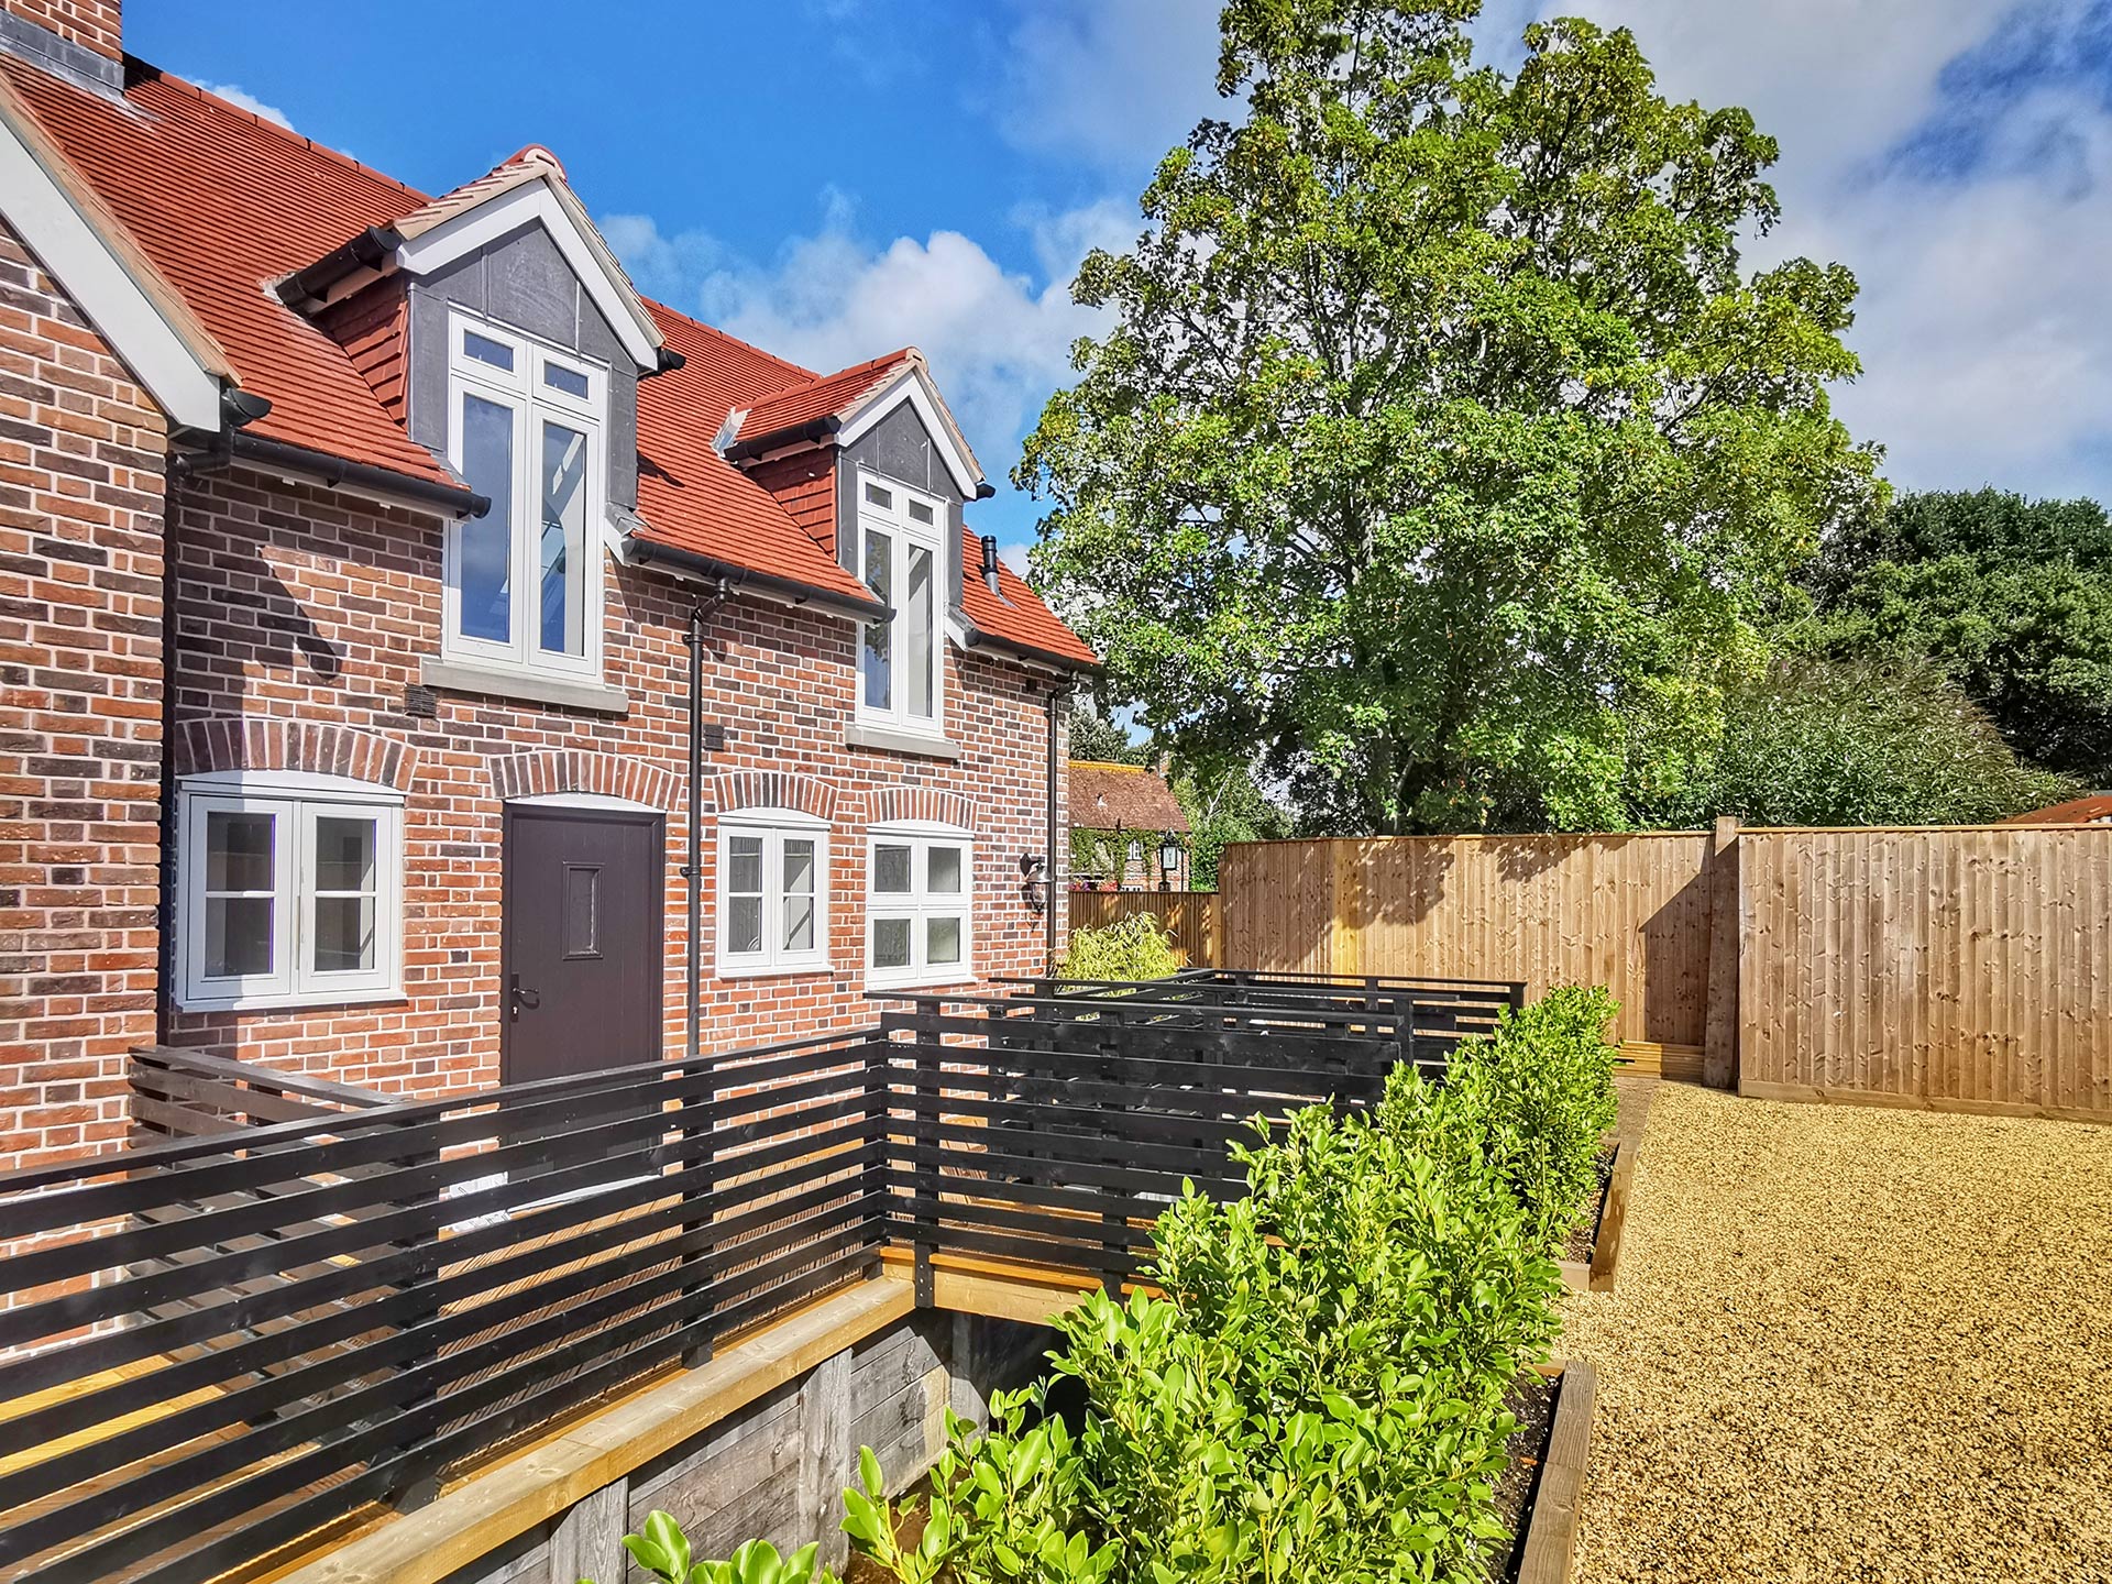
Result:
[[[1791,655],[1730,684],[1717,743],[1685,781],[1641,794],[1635,822],[1987,824],[2076,790],[2019,762],[1994,722],[1922,659]]]

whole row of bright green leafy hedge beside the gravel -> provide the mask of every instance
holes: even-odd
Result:
[[[1246,1195],[1191,1187],[1159,1217],[1164,1297],[1094,1293],[1058,1320],[1077,1432],[1048,1381],[995,1396],[982,1434],[948,1415],[908,1548],[864,1451],[845,1531],[900,1584],[1485,1584],[1508,1554],[1506,1394],[1554,1341],[1550,1248],[1611,1124],[1611,1014],[1605,991],[1554,991],[1442,1086],[1400,1067],[1371,1113],[1257,1119]],[[741,1554],[754,1578],[739,1554],[663,1578],[809,1584],[807,1552]]]

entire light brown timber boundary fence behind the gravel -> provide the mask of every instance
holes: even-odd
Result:
[[[1605,984],[1666,1077],[2112,1121],[2112,826],[1248,843],[1221,879],[1221,967]]]

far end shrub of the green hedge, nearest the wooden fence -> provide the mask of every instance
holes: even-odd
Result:
[[[1599,1149],[1616,1109],[1605,1026],[1616,1012],[1620,1003],[1603,988],[1559,986],[1504,1012],[1495,1033],[1462,1045],[1445,1073],[1476,1147],[1552,1246],[1599,1191]]]

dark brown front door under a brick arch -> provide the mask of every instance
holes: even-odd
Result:
[[[663,822],[507,805],[501,1079],[661,1056]]]

